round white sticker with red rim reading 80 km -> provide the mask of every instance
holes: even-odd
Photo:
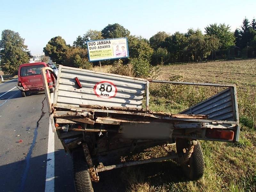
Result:
[[[94,94],[97,97],[109,99],[116,96],[116,85],[109,81],[101,81],[93,87]]]

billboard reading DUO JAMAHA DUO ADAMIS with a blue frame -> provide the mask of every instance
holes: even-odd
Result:
[[[127,37],[87,41],[89,61],[129,57]]]

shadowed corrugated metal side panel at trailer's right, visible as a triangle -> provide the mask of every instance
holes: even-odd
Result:
[[[235,96],[232,87],[204,100],[181,114],[209,115],[211,120],[236,121]]]

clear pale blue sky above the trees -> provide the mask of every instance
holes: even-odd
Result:
[[[204,31],[212,23],[229,24],[234,31],[244,17],[256,18],[255,7],[255,0],[0,0],[0,31],[19,32],[31,53],[38,54],[54,36],[72,45],[88,29],[102,30],[113,23],[147,39],[158,31]]]

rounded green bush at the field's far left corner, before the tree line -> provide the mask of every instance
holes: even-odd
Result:
[[[166,48],[159,47],[156,51],[154,51],[151,59],[152,65],[157,64],[167,64],[170,61],[170,53]]]

